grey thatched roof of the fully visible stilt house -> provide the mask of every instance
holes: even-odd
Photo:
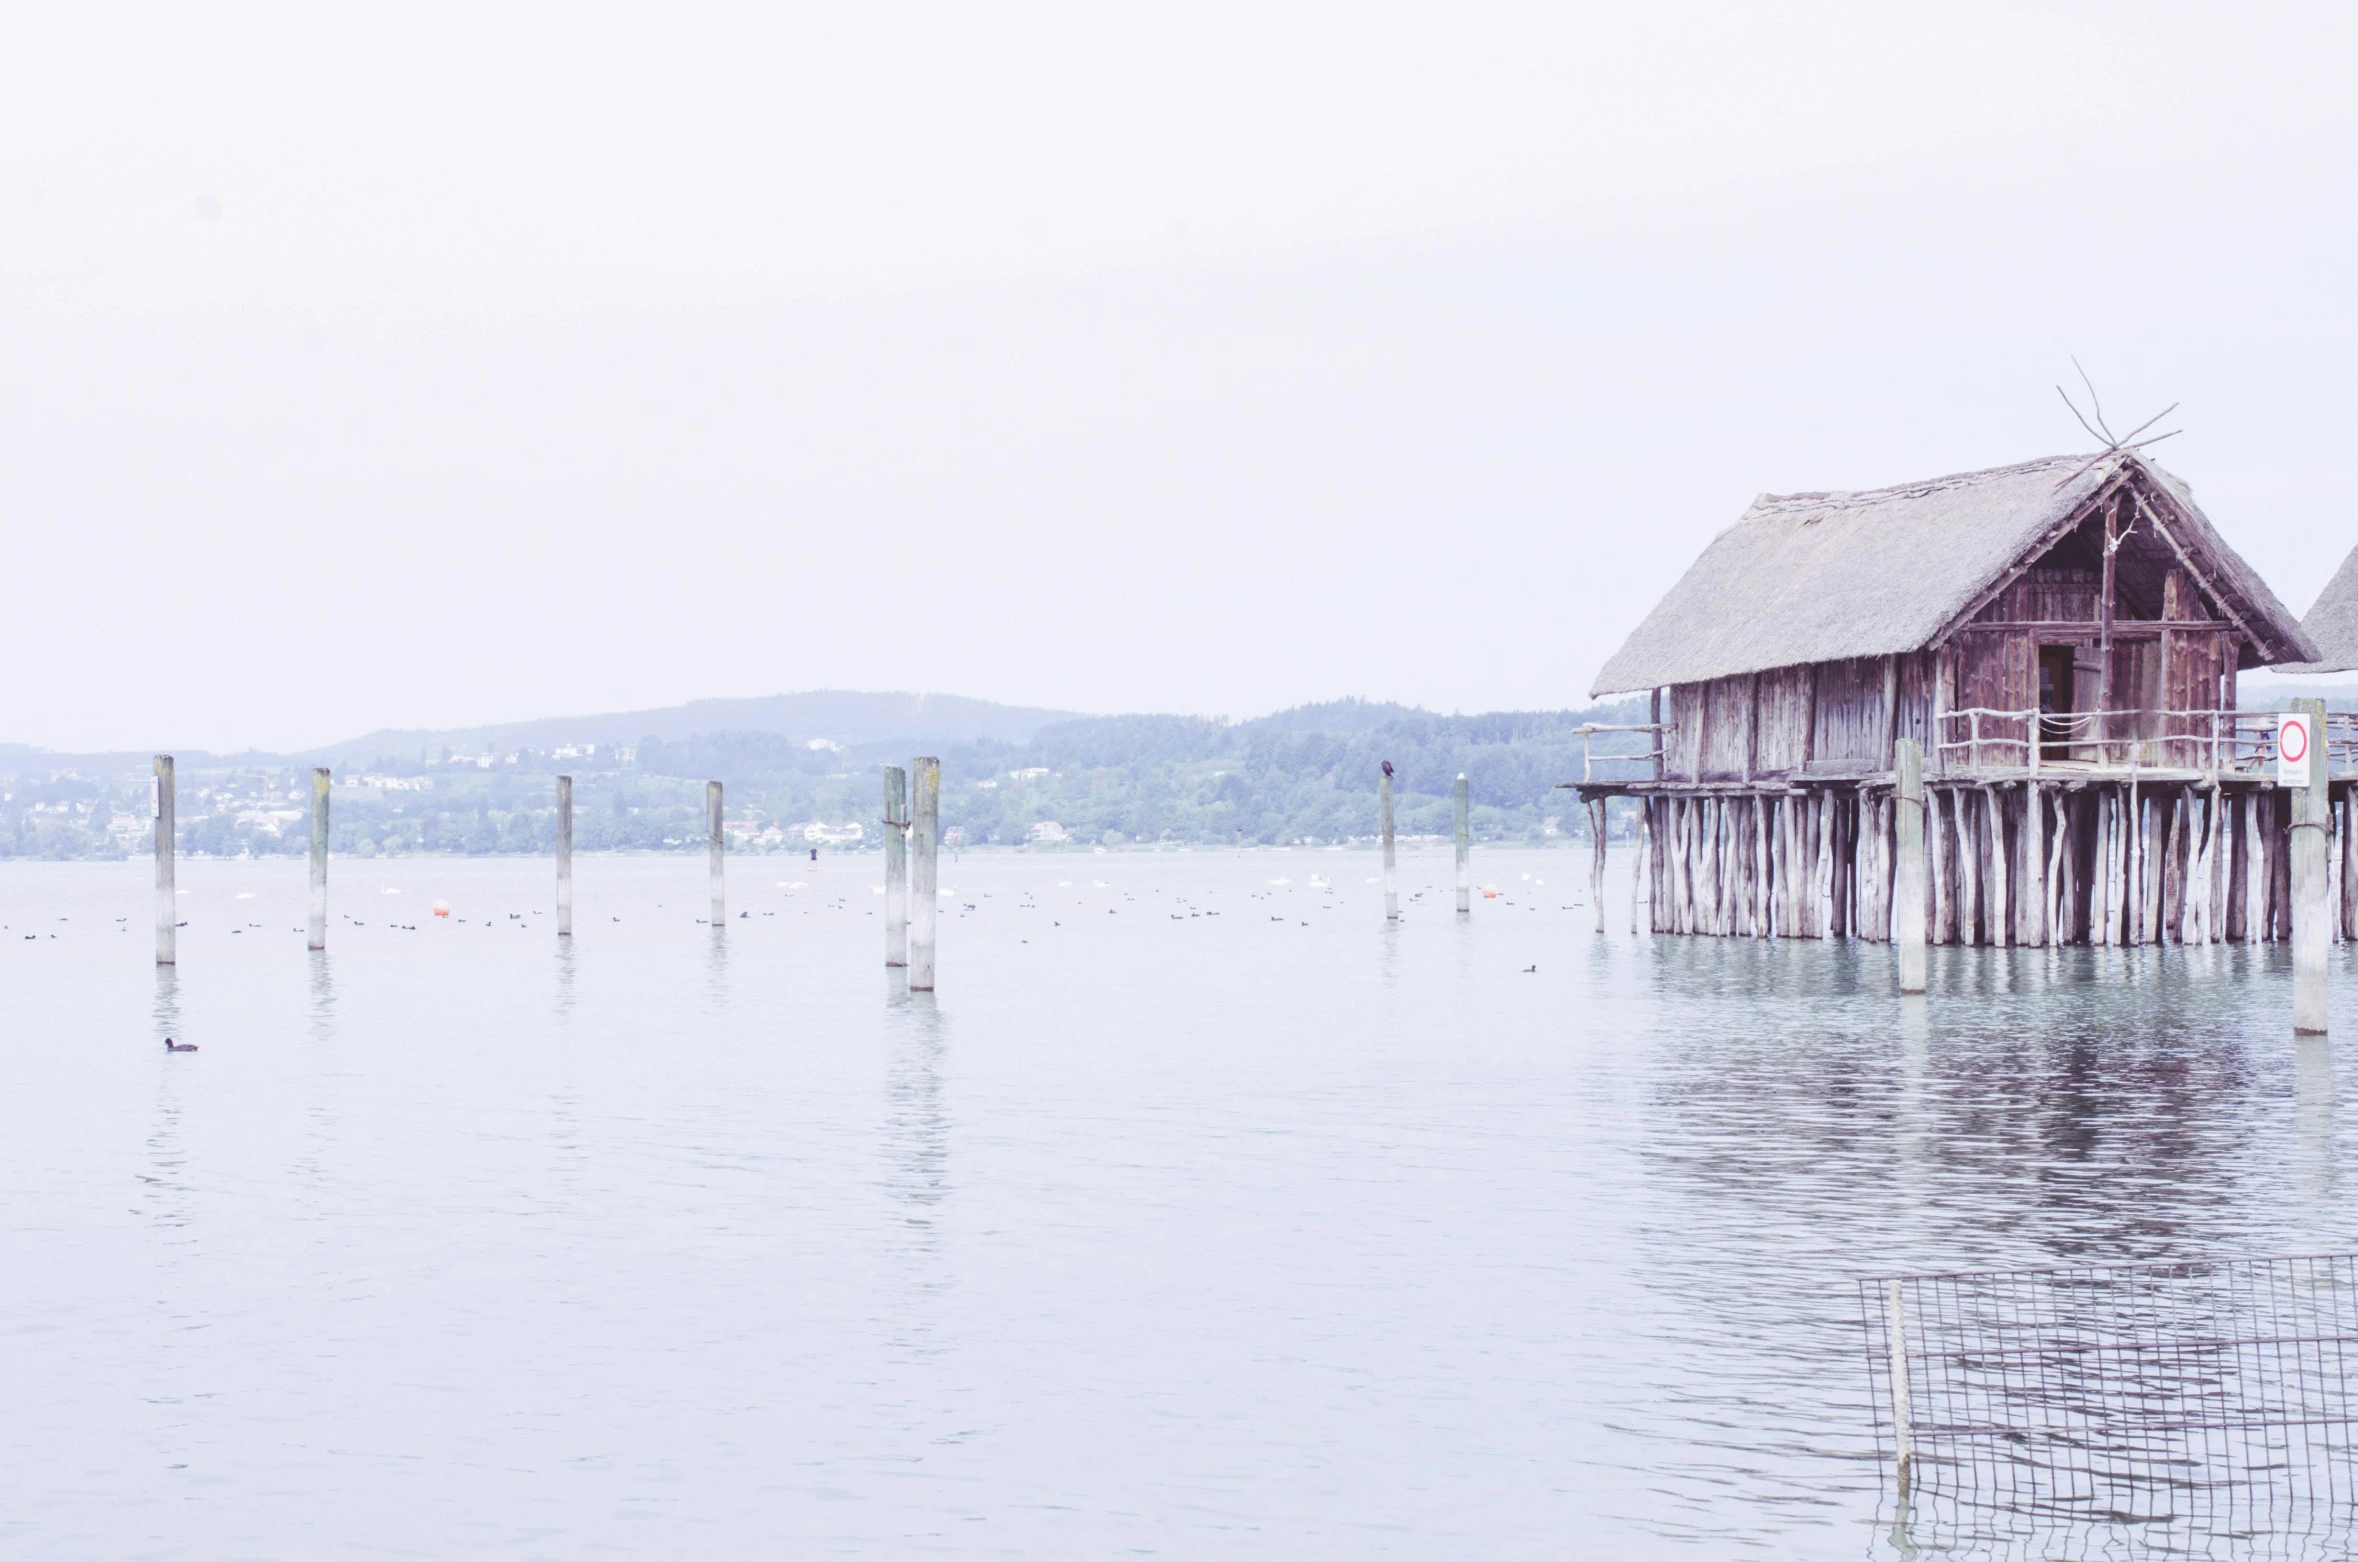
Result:
[[[2136,481],[2264,658],[2311,656],[2301,625],[2141,455],[2049,455],[1868,493],[1764,493],[1613,654],[1592,696],[1919,651],[2040,557],[2115,477]]]

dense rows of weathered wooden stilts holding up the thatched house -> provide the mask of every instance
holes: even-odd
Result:
[[[2351,786],[2332,786],[2334,941],[2358,927]],[[1639,798],[1655,932],[1889,941],[1891,788]],[[1934,944],[2273,944],[2292,937],[2292,812],[2268,786],[1995,781],[1926,788]]]

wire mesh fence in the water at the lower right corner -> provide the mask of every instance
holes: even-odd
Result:
[[[1903,1496],[2040,1527],[2346,1529],[2358,1255],[1863,1279]],[[2004,1527],[2000,1527],[2004,1529]]]

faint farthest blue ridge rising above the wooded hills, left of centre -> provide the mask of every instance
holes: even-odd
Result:
[[[495,727],[387,727],[358,739],[288,755],[297,764],[332,764],[337,769],[399,760],[420,764],[443,748],[465,755],[507,755],[519,748],[632,746],[644,739],[679,743],[712,731],[762,731],[780,739],[823,739],[856,748],[863,743],[903,743],[953,748],[957,743],[1023,743],[1042,727],[1080,720],[1071,710],[1033,710],[997,705],[960,694],[861,694],[854,689],[814,689],[811,694],[762,694],[733,701],[689,701],[658,710],[615,710],[608,715],[554,715]]]

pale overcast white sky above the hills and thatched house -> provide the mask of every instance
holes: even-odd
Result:
[[[1585,703],[1759,491],[2358,543],[2349,7],[24,7],[0,741]]]

